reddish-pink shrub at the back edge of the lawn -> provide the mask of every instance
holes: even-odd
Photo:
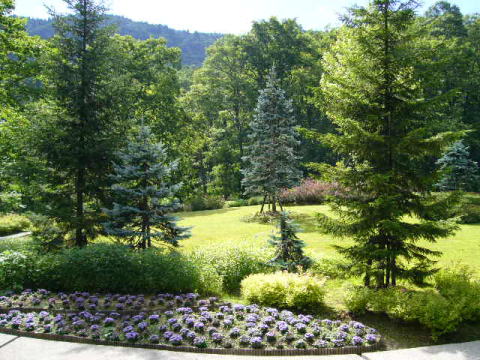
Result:
[[[336,184],[305,179],[299,186],[283,190],[279,199],[282,204],[315,205],[322,204],[327,196],[335,195],[337,191]]]

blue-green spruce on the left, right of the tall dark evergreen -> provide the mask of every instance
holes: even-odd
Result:
[[[155,143],[150,128],[142,126],[136,141],[118,154],[114,165],[113,209],[105,210],[109,235],[126,239],[130,245],[145,249],[155,240],[177,246],[188,237],[186,228],[176,225],[170,213],[180,207],[174,196],[180,184],[170,184],[177,163],[167,163],[161,143]]]

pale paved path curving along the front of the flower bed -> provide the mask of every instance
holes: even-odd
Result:
[[[278,360],[87,345],[0,334],[0,360]],[[284,357],[283,359],[286,359]],[[292,360],[480,360],[480,341],[358,355],[292,356]]]

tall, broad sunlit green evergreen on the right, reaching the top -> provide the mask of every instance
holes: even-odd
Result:
[[[455,229],[437,221],[448,219],[455,194],[440,200],[431,193],[439,174],[426,164],[463,133],[430,125],[445,99],[425,99],[414,73],[422,61],[411,31],[415,7],[414,1],[373,0],[351,9],[323,61],[322,106],[338,131],[323,141],[343,161],[319,168],[346,191],[330,199],[337,217],[320,216],[320,223],[326,233],[353,238],[353,245],[337,249],[366,286],[372,279],[377,287],[400,278],[421,283],[439,253],[418,242]]]

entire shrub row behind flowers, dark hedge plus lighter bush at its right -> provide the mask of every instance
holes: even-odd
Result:
[[[221,294],[238,289],[244,277],[266,271],[268,256],[234,247],[186,254],[103,243],[56,253],[19,248],[0,253],[0,289]]]

